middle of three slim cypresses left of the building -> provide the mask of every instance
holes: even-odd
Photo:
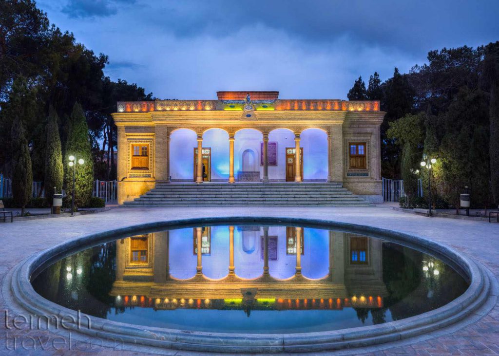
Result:
[[[57,121],[57,114],[50,107],[45,145],[45,197],[49,202],[52,201],[52,195],[62,189],[62,179],[64,176],[61,140]],[[54,191],[54,186],[56,187],[56,191]]]

